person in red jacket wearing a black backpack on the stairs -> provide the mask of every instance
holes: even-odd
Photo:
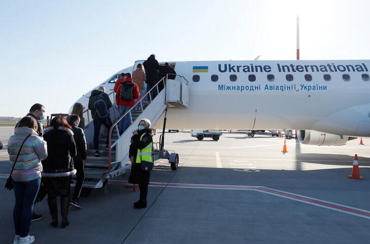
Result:
[[[123,100],[123,99],[120,98],[121,84],[119,84],[118,89],[117,89],[117,93],[116,93],[116,96],[115,96],[115,100],[116,100],[116,103],[119,107],[119,112],[120,112],[121,116],[124,115],[125,113],[127,113],[134,106],[135,99],[140,97],[139,88],[135,83],[132,82],[130,73],[126,73],[125,83],[131,83],[132,84],[132,99],[131,100]],[[119,134],[124,133],[125,130],[127,128],[129,128],[130,124],[131,124],[131,113],[126,115],[119,122],[119,125],[118,125]]]

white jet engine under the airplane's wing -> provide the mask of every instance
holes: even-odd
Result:
[[[316,146],[342,146],[357,137],[329,134],[316,130],[297,130],[300,143]]]

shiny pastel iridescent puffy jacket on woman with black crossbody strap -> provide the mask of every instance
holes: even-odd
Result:
[[[12,178],[14,181],[27,182],[41,178],[42,164],[41,160],[47,157],[46,142],[38,133],[28,127],[16,127],[14,135],[10,136],[8,141],[8,154],[13,166],[20,146],[24,138],[31,134],[25,141],[17,163],[14,167]]]

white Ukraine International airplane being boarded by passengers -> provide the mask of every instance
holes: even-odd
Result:
[[[132,73],[143,61],[135,61],[93,89],[112,90],[120,73]],[[176,79],[168,79],[165,91],[138,117],[150,117],[153,128],[166,123],[167,129],[182,130],[292,129],[300,143],[318,146],[340,146],[356,136],[370,136],[370,60],[169,63]],[[91,90],[76,102],[87,108]],[[114,101],[114,94],[110,97]],[[91,123],[89,111],[84,116]],[[110,145],[118,148],[111,162],[123,162],[137,123],[133,120],[132,128]],[[92,137],[91,131],[86,129],[86,139]]]

